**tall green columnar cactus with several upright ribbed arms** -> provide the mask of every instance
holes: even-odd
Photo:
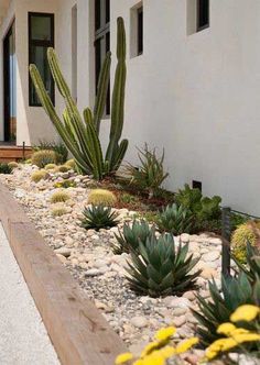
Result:
[[[30,65],[30,75],[35,86],[39,99],[67,148],[73,154],[78,168],[84,174],[93,174],[95,179],[100,180],[104,176],[112,174],[119,168],[128,147],[127,140],[122,140],[120,142],[123,128],[124,89],[127,76],[126,32],[122,18],[118,18],[118,64],[112,91],[111,128],[109,144],[105,155],[106,157],[104,157],[99,141],[99,129],[108,91],[111,66],[110,52],[107,54],[101,68],[94,111],[86,108],[84,110],[83,118],[61,71],[58,60],[53,48],[48,48],[47,58],[53,78],[57,85],[57,89],[65,101],[63,120],[55,111],[36,66]]]

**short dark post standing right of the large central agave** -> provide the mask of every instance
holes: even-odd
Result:
[[[223,263],[221,273],[224,276],[230,276],[230,239],[231,239],[231,209],[228,207],[223,208],[221,213],[221,235],[223,235]]]

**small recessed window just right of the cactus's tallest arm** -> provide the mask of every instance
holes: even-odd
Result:
[[[137,57],[143,54],[143,5],[138,3],[131,9],[130,55]]]

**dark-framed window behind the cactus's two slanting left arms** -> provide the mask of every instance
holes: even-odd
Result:
[[[54,14],[29,13],[29,63],[35,64],[54,103],[54,80],[47,62],[47,48],[54,47]],[[34,85],[29,76],[29,104],[41,107]]]

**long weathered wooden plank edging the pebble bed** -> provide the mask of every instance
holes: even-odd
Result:
[[[62,364],[112,365],[123,343],[1,185],[0,220]]]

